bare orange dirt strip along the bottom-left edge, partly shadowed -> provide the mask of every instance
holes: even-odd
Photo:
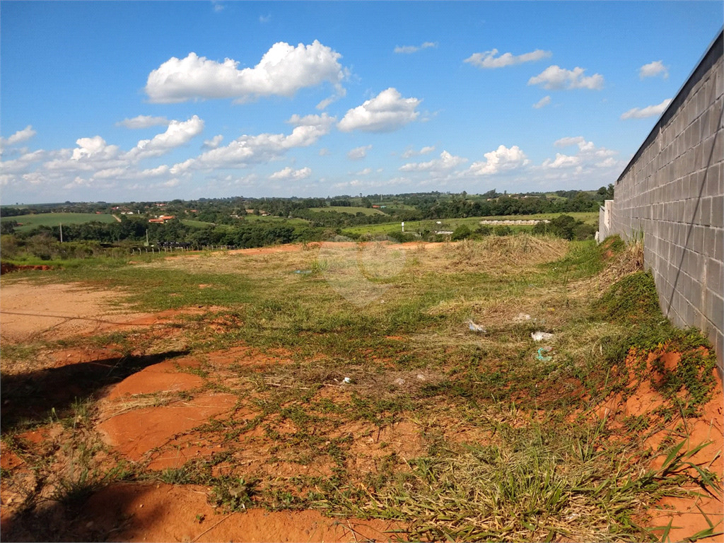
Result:
[[[26,523],[6,518],[4,539],[127,542],[357,542],[395,541],[390,521],[327,518],[317,511],[250,509],[216,514],[206,489],[188,485],[114,484],[95,494],[74,520],[49,510]],[[48,519],[53,519],[48,522]],[[59,529],[63,539],[55,538]],[[46,537],[43,538],[43,535]]]

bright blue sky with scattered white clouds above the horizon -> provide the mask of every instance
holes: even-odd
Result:
[[[0,202],[599,188],[723,5],[3,1]]]

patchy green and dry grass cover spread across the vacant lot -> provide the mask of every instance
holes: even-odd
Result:
[[[66,487],[54,488],[72,497],[117,477],[203,484],[219,510],[392,518],[407,523],[412,539],[632,541],[652,539],[636,519],[663,494],[694,479],[712,492],[720,486],[705,467],[683,469],[691,451],[676,442],[647,447],[644,430],[662,413],[628,416],[620,426],[591,415],[649,379],[686,421],[712,390],[710,346],[662,317],[652,278],[620,240],[515,236],[349,248],[340,254],[351,264],[340,274],[354,277],[353,264],[363,263],[355,280],[382,289],[361,305],[335,289],[334,263],[312,246],[47,272],[117,289],[143,311],[195,311],[164,330],[182,333],[201,361],[179,371],[203,378],[203,390],[138,396],[125,408],[208,391],[237,398],[229,413],[161,447],[216,447],[203,458],[162,471],[140,463],[104,479],[108,464],[95,462],[108,452],[89,443],[73,453],[87,470],[74,469]],[[400,266],[384,266],[390,261]],[[486,332],[472,332],[468,320]],[[553,336],[535,342],[536,331]],[[156,339],[135,331],[83,342],[148,357]],[[543,347],[550,358],[539,355]],[[23,360],[56,348],[4,345],[2,354]],[[675,367],[664,356],[673,351],[681,355]],[[97,405],[71,403],[57,417],[65,422],[52,424],[78,432],[72,421],[80,417],[90,434]],[[4,434],[4,447],[20,450],[19,428]],[[659,453],[665,461],[653,470]],[[56,450],[30,461],[54,473],[64,458]]]

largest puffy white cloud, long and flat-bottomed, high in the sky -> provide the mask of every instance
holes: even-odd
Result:
[[[239,62],[216,62],[189,53],[185,59],[175,56],[148,75],[146,94],[152,102],[182,102],[195,98],[237,98],[241,101],[259,96],[293,96],[301,88],[329,82],[343,96],[342,80],[348,71],[342,67],[336,51],[313,41],[291,46],[278,42],[266,51],[253,68],[239,70]]]

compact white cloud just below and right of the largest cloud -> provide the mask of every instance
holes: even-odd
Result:
[[[347,111],[337,128],[342,132],[392,132],[418,117],[420,113],[415,109],[420,103],[417,98],[403,98],[397,89],[390,87]]]

